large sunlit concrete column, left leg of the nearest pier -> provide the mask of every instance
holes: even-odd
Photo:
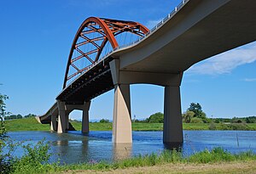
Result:
[[[132,143],[130,85],[114,86],[113,143]]]

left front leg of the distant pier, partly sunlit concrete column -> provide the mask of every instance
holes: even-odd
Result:
[[[58,101],[58,110],[59,110],[59,115],[58,115],[58,133],[63,133],[66,132],[66,109],[65,109],[65,102]]]

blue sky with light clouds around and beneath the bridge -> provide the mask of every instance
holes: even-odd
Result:
[[[134,20],[153,28],[181,0],[0,0],[0,93],[12,114],[43,115],[61,92],[67,57],[79,25],[90,16]],[[208,117],[256,115],[256,42],[186,70],[183,112],[200,103]],[[131,115],[163,112],[164,88],[131,85]],[[113,90],[94,98],[90,120],[113,117]],[[80,119],[74,111],[72,119]]]

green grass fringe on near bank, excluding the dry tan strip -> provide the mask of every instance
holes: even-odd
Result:
[[[27,159],[27,158],[26,158]],[[28,158],[30,159],[30,157]],[[189,157],[183,157],[182,153],[173,151],[163,151],[160,154],[146,154],[144,156],[138,155],[130,159],[119,160],[115,162],[89,162],[82,164],[72,164],[60,166],[58,164],[38,164],[27,162],[28,160],[20,160],[15,165],[13,173],[73,173],[77,170],[84,172],[90,171],[110,171],[117,169],[125,169],[129,167],[143,167],[143,166],[159,166],[164,164],[219,164],[220,162],[231,161],[254,161],[256,154],[252,151],[247,151],[241,154],[231,154],[230,152],[215,148],[212,150],[204,150]],[[26,171],[26,172],[24,172]]]

